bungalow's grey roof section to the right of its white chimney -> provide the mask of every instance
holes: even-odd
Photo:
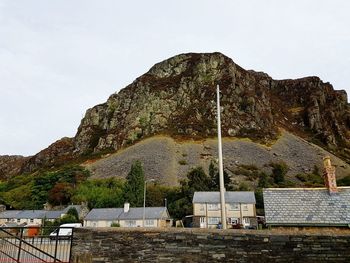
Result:
[[[119,220],[129,219],[142,219],[143,218],[143,207],[130,208],[128,212],[121,213]],[[146,207],[145,208],[145,219],[168,219],[169,214],[166,207]]]

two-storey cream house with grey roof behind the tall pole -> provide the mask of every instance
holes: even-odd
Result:
[[[195,192],[193,227],[216,228],[221,221],[220,192]],[[225,192],[228,228],[256,226],[255,195],[251,191]]]

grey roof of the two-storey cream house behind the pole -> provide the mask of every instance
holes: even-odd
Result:
[[[255,204],[252,191],[225,192],[226,203]],[[194,192],[192,203],[220,203],[220,192]]]

